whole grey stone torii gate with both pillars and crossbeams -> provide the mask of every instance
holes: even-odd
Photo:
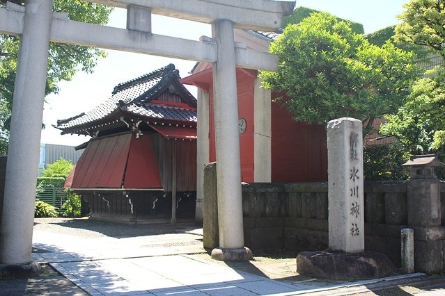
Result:
[[[213,63],[221,259],[244,251],[235,67],[276,70],[272,54],[235,44],[233,28],[279,28],[295,1],[86,0],[127,9],[127,29],[74,22],[52,0],[0,8],[0,33],[21,35],[10,126],[0,265],[31,265],[36,172],[49,41]],[[200,41],[151,33],[151,14],[212,24]]]

